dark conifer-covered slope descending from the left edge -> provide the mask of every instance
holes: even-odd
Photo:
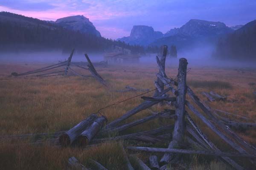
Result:
[[[89,32],[73,31],[59,24],[9,12],[0,12],[0,52],[62,50],[104,52],[120,46],[143,53],[141,46],[108,40]]]

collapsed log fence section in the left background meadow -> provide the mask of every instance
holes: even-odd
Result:
[[[72,50],[69,58],[67,61],[63,61],[63,62],[59,62],[57,64],[53,64],[50,66],[46,66],[43,67],[41,69],[35,69],[29,72],[23,72],[18,74],[17,72],[12,72],[12,76],[24,76],[24,75],[35,75],[37,77],[52,77],[52,76],[59,76],[59,75],[76,75],[76,76],[80,76],[83,78],[88,78],[88,77],[94,77],[97,81],[99,81],[101,84],[103,84],[104,86],[107,86],[107,83],[105,82],[105,80],[98,74],[98,72],[96,71],[96,69],[93,66],[93,63],[90,61],[90,58],[88,57],[87,54],[85,54],[85,58],[87,59],[87,68],[84,67],[83,65],[81,65],[81,63],[73,63],[71,62],[72,58],[73,58],[73,54],[74,54],[74,50]],[[84,63],[83,63],[84,64]],[[105,62],[100,62],[100,64],[97,64],[97,66],[105,66],[107,63]],[[92,76],[88,76],[88,75],[81,75],[79,72],[77,72],[75,69],[73,69],[71,66],[76,66],[80,69],[85,69],[85,70],[89,70],[89,72],[92,74]],[[61,70],[61,68],[63,70]]]

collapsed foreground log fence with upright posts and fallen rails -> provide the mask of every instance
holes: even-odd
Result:
[[[163,46],[162,56],[157,56],[156,58],[159,72],[157,73],[157,81],[154,82],[156,89],[153,96],[143,96],[143,103],[139,104],[134,109],[129,110],[124,115],[108,124],[106,124],[107,118],[105,116],[99,117],[96,114],[91,114],[88,118],[81,121],[75,127],[61,134],[58,137],[59,144],[65,147],[70,145],[85,147],[90,144],[112,140],[137,140],[151,143],[167,141],[169,142],[168,148],[128,146],[126,147],[126,151],[131,150],[133,152],[143,151],[150,153],[163,153],[162,157],[159,159],[154,155],[148,157],[148,162],[150,163],[151,169],[165,170],[169,164],[178,162],[181,159],[182,154],[216,156],[236,170],[244,170],[244,167],[236,162],[234,158],[247,158],[247,160],[255,166],[256,147],[244,141],[230,128],[238,128],[241,126],[244,128],[252,128],[256,127],[255,124],[230,121],[227,118],[218,115],[215,109],[212,109],[207,104],[203,103],[186,84],[188,62],[185,58],[180,58],[177,81],[168,78],[165,73],[166,53],[167,46]],[[88,60],[88,63],[90,64],[90,60]],[[92,71],[93,67],[89,67],[89,69]],[[167,88],[165,89],[165,87]],[[167,94],[168,92],[172,92],[173,95]],[[211,96],[212,94],[215,94],[215,96],[218,95],[216,95],[214,92],[209,94]],[[190,98],[189,101],[186,96]],[[217,97],[215,97],[215,100],[217,100],[216,98]],[[170,103],[172,103],[175,110],[163,109],[161,112],[152,112],[151,115],[146,116],[145,118],[141,118],[131,123],[121,124],[123,121],[139,113],[140,111],[149,109],[150,107],[159,103],[162,105],[167,104],[167,106],[170,106]],[[201,111],[199,111],[198,108],[200,108]],[[221,151],[212,141],[209,140],[207,134],[204,134],[200,127],[195,124],[192,115],[198,117],[198,119],[203,122],[205,126],[207,126],[210,130],[212,130],[213,133],[218,135],[224,142],[232,147],[233,152]],[[128,128],[157,118],[172,118],[175,123],[174,125],[159,127],[154,130],[147,130],[126,135],[117,135],[110,138],[102,138],[102,136],[110,133],[118,134],[119,132],[127,130]],[[187,144],[186,141],[188,141],[189,144]],[[200,148],[200,150],[192,150],[192,145],[197,146]],[[234,152],[235,150],[236,152]],[[124,148],[123,153],[128,169],[133,170],[134,168],[129,161],[129,156],[126,155],[127,152],[125,152]],[[138,162],[142,169],[150,169],[136,156],[131,157]],[[71,167],[78,166],[81,169],[85,169],[85,167],[81,166],[81,164],[74,158],[69,160],[69,165]],[[105,167],[102,166],[101,168],[104,169]],[[100,169],[100,167],[98,167],[98,169]]]

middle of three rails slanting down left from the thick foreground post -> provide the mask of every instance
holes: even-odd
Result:
[[[161,115],[163,115],[164,112],[159,112],[157,114],[154,114],[154,115],[150,115],[150,116],[147,116],[145,118],[142,118],[142,119],[139,119],[137,121],[133,121],[131,123],[128,123],[128,124],[124,124],[124,125],[121,125],[119,127],[115,127],[115,128],[109,128],[109,129],[106,129],[106,130],[102,130],[102,133],[108,133],[110,131],[113,131],[113,132],[121,132],[122,130],[125,130],[125,129],[128,129],[130,127],[134,127],[138,124],[142,124],[142,123],[145,123],[147,121],[151,121],[155,118],[159,118]]]

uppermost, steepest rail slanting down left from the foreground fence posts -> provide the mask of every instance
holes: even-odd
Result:
[[[165,94],[166,92],[169,92],[169,90],[171,90],[170,88],[163,90],[163,92],[159,93],[159,96]],[[139,106],[135,107],[134,109],[129,110],[128,112],[126,112],[124,115],[122,115],[120,118],[112,121],[110,124],[108,124],[105,128],[111,128],[116,126],[116,124],[120,123],[121,121],[131,117],[132,115],[135,115],[137,112],[140,112],[142,110],[145,110],[151,106],[154,106],[155,104],[158,104],[160,101],[144,101],[142,104],[140,104]]]

